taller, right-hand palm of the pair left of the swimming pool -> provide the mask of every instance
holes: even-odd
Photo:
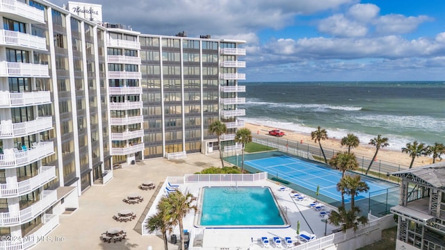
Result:
[[[181,237],[181,249],[184,248],[184,225],[182,220],[192,210],[196,210],[197,207],[192,205],[196,201],[196,197],[193,194],[187,192],[182,194],[179,190],[170,192],[168,197],[163,197],[159,201],[159,210],[163,211],[163,218],[166,221],[170,221],[172,226],[179,225],[179,233]]]

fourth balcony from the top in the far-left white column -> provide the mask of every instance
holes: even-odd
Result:
[[[0,108],[15,108],[51,103],[49,91],[0,93]]]

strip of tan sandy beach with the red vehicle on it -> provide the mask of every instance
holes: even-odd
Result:
[[[259,134],[264,134],[264,135],[268,134],[268,131],[275,129],[275,127],[264,126],[264,125],[260,125],[260,124],[250,124],[247,122],[245,123],[245,127],[250,129],[250,131],[252,131],[252,133],[259,133]],[[302,140],[303,143],[318,146],[318,142],[315,143],[314,140],[312,140],[310,134],[299,133],[298,131],[286,131],[285,129],[282,129],[282,128],[277,128],[277,129],[280,129],[286,133],[286,135],[284,135],[283,138],[293,140],[296,142],[300,142]],[[327,140],[323,140],[321,142],[321,146],[323,147],[323,149],[325,149],[325,150],[326,149],[334,149],[336,151],[347,151],[348,150],[348,147],[341,146],[341,144],[340,144],[341,138],[330,138],[329,134],[327,134],[327,138],[328,138]],[[375,147],[369,145],[368,142],[360,142],[359,147],[357,147],[355,149],[351,149],[351,151],[353,151],[357,156],[367,156],[369,158],[372,158],[375,153]],[[402,150],[401,151],[393,151],[393,150],[383,148],[378,151],[377,158],[378,158],[378,160],[387,161],[389,163],[400,164],[400,165],[405,165],[405,166],[410,166],[410,163],[411,163],[410,156],[407,153],[402,153]],[[437,161],[438,160],[436,159],[436,162]],[[413,167],[421,167],[424,165],[428,165],[430,163],[432,163],[432,158],[429,158],[426,156],[421,156],[419,158],[416,158],[416,160],[414,160]]]

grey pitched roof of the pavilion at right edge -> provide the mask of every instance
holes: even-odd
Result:
[[[434,188],[445,190],[445,162],[406,169],[391,173],[391,175],[412,181],[423,181]]]

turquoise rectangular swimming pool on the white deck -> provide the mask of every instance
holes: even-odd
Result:
[[[290,225],[268,187],[204,187],[195,226],[284,228]]]

